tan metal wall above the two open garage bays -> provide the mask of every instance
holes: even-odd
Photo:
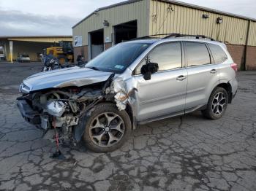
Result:
[[[99,10],[89,16],[73,28],[73,36],[82,36],[83,46],[88,45],[88,33],[104,28],[104,20],[108,20],[110,26],[104,28],[104,39],[109,37],[112,42],[113,26],[132,20],[138,22],[138,36],[148,35],[149,1],[135,1],[117,7]]]

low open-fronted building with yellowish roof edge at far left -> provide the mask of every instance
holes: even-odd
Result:
[[[72,36],[0,36],[0,61],[16,61],[19,54],[40,61],[43,49],[61,41],[72,42]]]

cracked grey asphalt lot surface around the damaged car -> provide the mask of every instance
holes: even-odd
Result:
[[[121,149],[55,145],[20,116],[15,98],[39,63],[0,63],[0,190],[256,190],[256,72],[220,120],[200,112],[143,125]]]

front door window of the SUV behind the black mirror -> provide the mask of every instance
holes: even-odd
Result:
[[[170,42],[160,44],[149,52],[148,56],[140,62],[135,74],[140,74],[140,69],[148,62],[158,63],[159,71],[178,69],[182,67],[181,43]]]

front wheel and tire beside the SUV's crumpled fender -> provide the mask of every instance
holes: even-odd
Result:
[[[119,111],[112,103],[95,106],[85,120],[83,141],[86,148],[94,152],[112,152],[120,148],[127,142],[132,131],[127,112]]]

